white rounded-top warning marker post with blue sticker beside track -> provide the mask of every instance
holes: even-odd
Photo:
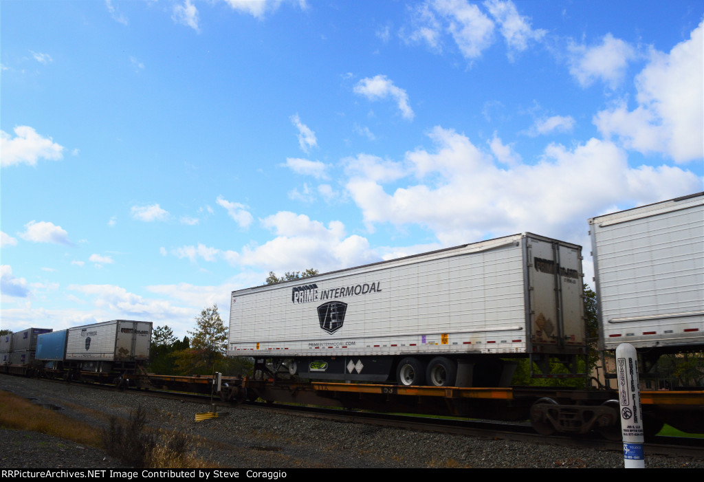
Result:
[[[638,357],[636,349],[629,343],[622,343],[616,348],[616,375],[621,407],[624,467],[626,469],[645,469]]]

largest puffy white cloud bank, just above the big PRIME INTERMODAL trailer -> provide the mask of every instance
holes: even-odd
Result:
[[[630,167],[625,151],[598,139],[569,149],[551,144],[539,163],[515,157],[505,169],[497,165],[505,158],[495,159],[463,134],[435,127],[429,136],[434,149],[406,153],[409,174],[393,190],[373,177],[348,179],[346,188],[370,229],[376,223],[419,224],[446,245],[524,231],[580,239],[575,233],[583,237],[586,220],[604,208],[700,190],[692,172]]]

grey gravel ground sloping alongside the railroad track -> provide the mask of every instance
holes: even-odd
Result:
[[[486,440],[367,424],[325,421],[238,407],[226,417],[194,421],[199,403],[163,400],[136,392],[102,391],[0,375],[0,390],[60,405],[61,414],[106,426],[109,416],[127,419],[137,406],[148,426],[194,437],[202,459],[223,468],[494,468],[623,467],[621,452],[566,448],[546,443]],[[0,429],[3,468],[124,468],[96,448],[43,434]],[[689,457],[646,457],[646,467],[704,467]]]

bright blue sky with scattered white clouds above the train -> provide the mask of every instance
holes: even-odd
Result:
[[[321,272],[703,189],[696,1],[13,1],[1,327],[193,329]]]

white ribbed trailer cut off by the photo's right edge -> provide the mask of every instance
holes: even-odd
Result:
[[[589,220],[601,350],[704,345],[704,192]]]

